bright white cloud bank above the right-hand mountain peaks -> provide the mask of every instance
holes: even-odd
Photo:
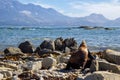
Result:
[[[115,19],[120,17],[120,0],[111,0],[108,2],[82,2],[77,1],[74,3],[70,3],[71,8],[74,9],[73,13],[68,15],[70,16],[86,16],[91,13],[99,13],[103,14],[105,17],[109,19]],[[79,13],[75,13],[75,11],[81,11]],[[74,15],[73,15],[74,14]]]

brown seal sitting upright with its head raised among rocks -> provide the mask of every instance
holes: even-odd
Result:
[[[66,69],[80,69],[89,68],[94,57],[91,55],[90,51],[87,49],[87,45],[85,41],[82,41],[80,44],[78,51],[74,52],[66,66]]]

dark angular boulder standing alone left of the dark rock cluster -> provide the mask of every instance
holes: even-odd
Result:
[[[18,46],[23,53],[33,53],[33,45],[29,41],[25,41]]]

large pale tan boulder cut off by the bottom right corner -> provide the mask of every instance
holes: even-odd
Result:
[[[119,80],[120,75],[107,71],[97,71],[85,77],[84,80]]]

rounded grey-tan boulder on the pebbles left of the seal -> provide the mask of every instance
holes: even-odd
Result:
[[[53,68],[54,66],[56,66],[56,64],[57,64],[56,59],[54,59],[52,57],[46,57],[46,58],[43,58],[43,60],[42,60],[42,68],[43,69]]]

